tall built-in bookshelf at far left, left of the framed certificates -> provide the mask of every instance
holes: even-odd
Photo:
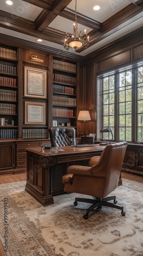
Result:
[[[0,138],[18,137],[17,49],[0,45]]]

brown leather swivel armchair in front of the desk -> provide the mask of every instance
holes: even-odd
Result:
[[[76,198],[77,202],[91,203],[86,210],[84,219],[94,208],[101,209],[102,206],[121,209],[122,216],[125,216],[123,206],[117,205],[116,197],[106,197],[117,186],[121,174],[121,168],[126,152],[127,142],[118,142],[107,145],[101,156],[92,157],[89,166],[72,165],[67,169],[66,175],[62,177],[64,191],[74,192],[92,196],[94,199]],[[113,203],[108,202],[113,200]]]

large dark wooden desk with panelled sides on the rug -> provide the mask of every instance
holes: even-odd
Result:
[[[70,165],[87,165],[92,156],[100,156],[105,146],[53,147],[41,152],[41,147],[26,148],[26,191],[43,206],[54,203],[53,196],[64,193],[62,176]],[[122,181],[121,181],[122,184]],[[121,185],[120,184],[120,185]]]

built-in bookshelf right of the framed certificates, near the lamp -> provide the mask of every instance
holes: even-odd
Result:
[[[58,126],[76,127],[76,89],[76,63],[53,59],[53,121],[57,121]]]

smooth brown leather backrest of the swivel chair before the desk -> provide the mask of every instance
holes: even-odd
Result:
[[[106,197],[118,186],[126,148],[126,141],[107,145],[99,162],[91,167],[93,176],[100,175],[100,177],[106,178],[103,197]]]

